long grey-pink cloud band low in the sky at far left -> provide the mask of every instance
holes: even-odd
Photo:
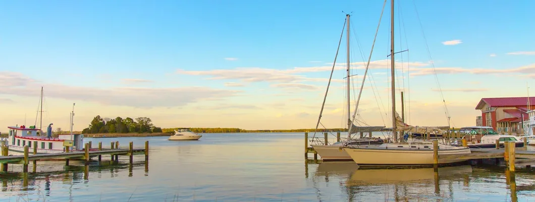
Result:
[[[0,83],[0,94],[37,96],[37,89],[43,86],[45,96],[48,98],[93,101],[115,106],[142,108],[185,106],[198,101],[237,96],[242,92],[196,86],[176,88],[111,87],[102,89],[43,84],[19,72],[0,72],[0,78],[3,81]]]

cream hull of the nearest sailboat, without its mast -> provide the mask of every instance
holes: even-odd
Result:
[[[430,165],[433,164],[433,149],[386,149],[343,148],[357,164],[370,165]],[[470,154],[470,148],[439,150],[438,154]],[[439,159],[439,164],[457,163],[465,160]]]

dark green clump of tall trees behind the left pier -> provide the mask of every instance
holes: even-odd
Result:
[[[93,121],[82,133],[152,133],[162,132],[162,128],[154,126],[152,120],[148,117],[137,117],[132,119],[130,117],[121,118],[101,118],[100,115],[95,116]]]

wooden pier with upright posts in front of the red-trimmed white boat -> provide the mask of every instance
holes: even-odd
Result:
[[[8,155],[9,146],[2,144],[2,156],[0,156],[1,170],[7,173],[9,164],[22,164],[23,173],[28,173],[28,164],[30,161],[33,163],[33,170],[35,172],[37,167],[37,161],[40,160],[64,160],[65,166],[69,166],[70,160],[85,161],[86,177],[89,162],[91,158],[98,156],[98,162],[102,161],[102,155],[110,155],[111,161],[118,161],[119,156],[129,156],[129,163],[133,163],[133,155],[145,155],[145,163],[148,166],[149,160],[149,141],[145,141],[145,148],[134,148],[133,142],[130,142],[128,148],[119,148],[119,141],[111,142],[110,148],[102,148],[102,142],[98,143],[98,148],[91,147],[91,141],[86,143],[83,147],[83,151],[68,152],[68,146],[63,153],[48,153],[37,154],[37,145],[33,146],[33,154],[29,154],[28,145],[24,147],[24,155]]]

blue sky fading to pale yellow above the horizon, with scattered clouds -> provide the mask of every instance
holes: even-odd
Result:
[[[4,1],[0,131],[74,130],[101,117],[156,126],[319,128],[347,122],[374,36],[356,125],[391,126],[390,1]],[[396,111],[471,126],[481,98],[535,95],[535,2],[394,2]],[[406,51],[404,51],[406,50]],[[333,65],[334,63],[334,65]],[[531,91],[530,91],[531,89]],[[444,101],[443,101],[444,100]]]

